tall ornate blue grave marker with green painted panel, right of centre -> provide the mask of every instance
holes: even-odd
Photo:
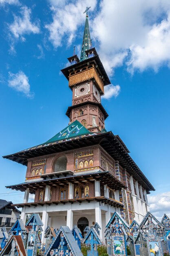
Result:
[[[115,211],[105,230],[109,256],[127,256],[126,238],[129,228],[128,223]]]

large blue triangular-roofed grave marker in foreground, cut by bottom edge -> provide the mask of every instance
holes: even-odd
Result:
[[[83,256],[71,230],[67,226],[60,227],[49,249],[44,256]]]

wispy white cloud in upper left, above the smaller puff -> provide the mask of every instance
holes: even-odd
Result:
[[[25,34],[39,34],[40,25],[39,21],[31,22],[31,9],[24,6],[21,7],[21,17],[14,15],[14,22],[8,24],[9,31],[15,39],[21,39],[25,41],[23,35]]]

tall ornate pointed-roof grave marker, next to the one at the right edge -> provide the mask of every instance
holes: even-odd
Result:
[[[141,222],[139,229],[146,235],[149,256],[163,256],[160,235],[163,234],[163,225],[148,212]]]

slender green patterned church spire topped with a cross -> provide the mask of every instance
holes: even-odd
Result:
[[[91,7],[87,7],[84,13],[86,13],[86,22],[85,22],[85,27],[84,27],[84,37],[83,37],[83,43],[82,43],[82,52],[80,56],[80,61],[86,60],[87,54],[86,50],[91,49],[91,36],[90,36],[90,30],[89,30],[89,25],[88,25],[88,10]]]

